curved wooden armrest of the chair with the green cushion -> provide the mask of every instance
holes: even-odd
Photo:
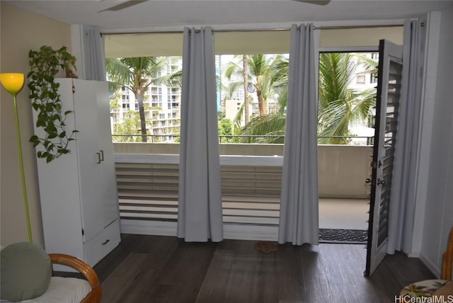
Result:
[[[84,275],[86,280],[88,280],[91,285],[91,292],[87,295],[86,299],[88,299],[88,296],[90,299],[84,299],[82,302],[101,302],[101,282],[99,281],[98,275],[96,275],[96,272],[90,265],[84,261],[81,261],[79,258],[66,255],[64,253],[49,253],[49,256],[52,263],[67,265],[71,268],[79,270],[79,272]]]

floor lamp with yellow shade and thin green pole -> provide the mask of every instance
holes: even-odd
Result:
[[[19,153],[19,165],[21,166],[23,202],[25,205],[25,219],[27,220],[28,241],[30,243],[33,243],[33,238],[31,236],[31,226],[30,226],[30,212],[28,211],[27,186],[25,185],[25,173],[23,170],[21,130],[19,129],[19,115],[18,115],[18,111],[17,111],[17,102],[16,102],[16,96],[23,88],[23,84],[25,82],[25,75],[19,74],[19,73],[2,73],[2,74],[0,74],[0,82],[1,82],[1,85],[4,86],[6,91],[11,93],[11,96],[13,96],[14,119],[16,120],[17,148],[18,148],[18,153]]]

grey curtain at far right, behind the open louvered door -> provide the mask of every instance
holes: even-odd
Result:
[[[395,142],[387,253],[411,252],[415,214],[421,92],[418,82],[418,21],[404,23],[403,83]]]

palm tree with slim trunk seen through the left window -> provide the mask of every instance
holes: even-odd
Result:
[[[147,142],[147,121],[144,113],[144,93],[151,84],[180,86],[180,72],[161,76],[168,64],[169,57],[132,57],[107,58],[105,69],[111,82],[110,91],[125,86],[134,93],[139,105],[140,130],[142,142]]]

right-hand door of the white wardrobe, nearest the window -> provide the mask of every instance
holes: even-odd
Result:
[[[118,219],[119,207],[117,198],[117,183],[115,176],[115,159],[113,155],[112,132],[110,124],[110,102],[108,99],[108,84],[98,82],[98,146],[103,154],[103,161],[99,166],[102,186],[102,215],[104,227]]]

